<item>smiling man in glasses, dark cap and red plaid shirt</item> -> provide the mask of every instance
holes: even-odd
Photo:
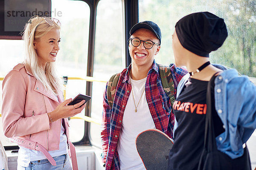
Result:
[[[144,21],[131,28],[131,65],[120,73],[112,108],[108,103],[108,85],[104,94],[101,138],[106,170],[145,170],[135,145],[136,136],[143,130],[157,128],[173,137],[171,102],[154,60],[160,43],[157,24]],[[187,71],[173,64],[170,70],[176,93],[177,84]]]

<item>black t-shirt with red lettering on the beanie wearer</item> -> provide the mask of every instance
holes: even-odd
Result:
[[[207,112],[207,81],[189,78],[173,105],[178,127],[169,154],[169,170],[197,170],[204,146],[205,114]],[[224,132],[214,105],[212,84],[212,116],[215,136]]]

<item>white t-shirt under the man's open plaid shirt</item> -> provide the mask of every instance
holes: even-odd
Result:
[[[121,170],[145,170],[136,149],[135,139],[143,130],[155,128],[144,91],[146,79],[147,77],[140,80],[131,79],[134,98],[131,92],[125,108],[122,128],[117,143]],[[141,95],[142,98],[140,100]],[[139,100],[140,103],[138,105]],[[138,105],[137,112],[134,111],[134,101],[136,106]]]

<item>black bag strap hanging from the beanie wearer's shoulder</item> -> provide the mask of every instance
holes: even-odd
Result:
[[[217,72],[219,73],[219,72]],[[214,125],[212,120],[212,91],[211,85],[214,83],[215,80],[215,73],[207,85],[207,92],[206,92],[206,104],[207,104],[207,112],[205,117],[205,131],[204,131],[204,148],[207,151],[212,152],[217,150],[216,141],[215,141],[215,133],[214,133]]]

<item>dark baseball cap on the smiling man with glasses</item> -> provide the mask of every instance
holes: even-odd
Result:
[[[137,23],[131,28],[130,35],[132,35],[137,29],[140,29],[140,28],[149,29],[150,31],[154,32],[154,34],[160,40],[160,44],[161,44],[161,30],[157,26],[157,24],[153,23],[152,21],[143,21],[143,22]]]

